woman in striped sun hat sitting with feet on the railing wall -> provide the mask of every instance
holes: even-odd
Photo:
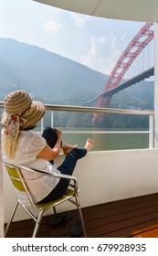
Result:
[[[33,101],[26,91],[13,91],[4,100],[5,112],[2,115],[2,157],[11,164],[26,165],[43,169],[50,173],[72,175],[78,160],[90,151],[93,142],[88,139],[84,148],[63,144],[61,131],[47,127],[42,136],[31,130],[45,114],[45,106]],[[66,154],[63,163],[54,165],[53,160],[60,149]],[[69,181],[58,177],[43,176],[31,172],[23,173],[36,202],[47,202],[61,197],[68,188]],[[21,193],[20,197],[23,197]]]

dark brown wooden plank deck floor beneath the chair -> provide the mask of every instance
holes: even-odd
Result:
[[[82,212],[89,238],[158,238],[158,193],[82,208]],[[77,210],[70,213],[73,218],[58,226],[49,225],[52,216],[44,217],[37,237],[70,237],[78,218]],[[31,237],[34,225],[31,219],[13,222],[7,237]]]

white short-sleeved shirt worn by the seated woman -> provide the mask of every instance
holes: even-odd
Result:
[[[16,155],[13,160],[7,159],[4,151],[4,129],[1,133],[2,159],[11,164],[26,165],[28,167],[46,170],[50,173],[60,173],[55,165],[51,165],[47,160],[37,158],[38,153],[47,144],[46,140],[38,133],[32,131],[20,131],[17,139]],[[59,178],[43,176],[31,172],[23,172],[27,186],[36,202],[47,197],[49,192],[57,186]],[[17,192],[23,203],[28,203],[23,192]]]

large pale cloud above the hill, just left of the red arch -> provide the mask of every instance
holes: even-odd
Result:
[[[87,55],[82,56],[81,63],[90,69],[110,75],[120,54],[113,33],[109,36],[90,37],[90,51]]]

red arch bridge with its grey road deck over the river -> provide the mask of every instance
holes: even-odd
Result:
[[[90,105],[91,102],[97,102],[97,107],[107,108],[111,102],[113,94],[121,91],[124,88],[131,86],[132,84],[149,78],[153,76],[154,69],[150,68],[139,75],[133,77],[131,80],[127,80],[121,83],[121,80],[127,70],[131,67],[133,61],[139,56],[142,50],[152,41],[153,39],[153,27],[152,22],[147,22],[142,29],[132,38],[131,43],[121,54],[120,59],[117,61],[116,65],[111,71],[111,75],[107,80],[102,93],[88,102],[87,105]],[[102,113],[94,113],[93,122],[100,122],[103,118]]]

